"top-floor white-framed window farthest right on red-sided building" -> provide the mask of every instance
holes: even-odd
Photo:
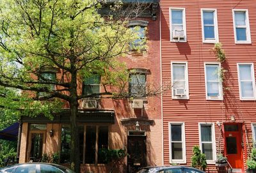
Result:
[[[233,10],[234,34],[236,43],[251,43],[248,10]]]

